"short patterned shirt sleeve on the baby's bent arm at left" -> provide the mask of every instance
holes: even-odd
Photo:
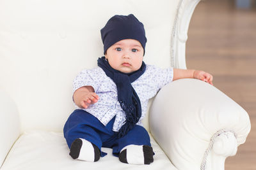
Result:
[[[101,84],[100,80],[102,80],[101,75],[99,69],[84,69],[81,71],[73,81],[73,94],[77,89],[84,86],[92,86],[97,92]]]

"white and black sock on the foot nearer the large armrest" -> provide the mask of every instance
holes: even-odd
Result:
[[[120,154],[119,160],[127,164],[150,164],[153,159],[153,148],[148,145],[128,145],[125,146]]]

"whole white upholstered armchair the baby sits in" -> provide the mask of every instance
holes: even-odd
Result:
[[[232,99],[203,81],[173,81],[150,101],[144,125],[156,155],[123,164],[103,148],[98,162],[73,160],[63,138],[72,80],[102,56],[100,29],[115,14],[145,25],[144,60],[186,68],[188,25],[199,0],[0,1],[0,166],[29,169],[221,170],[250,132]]]

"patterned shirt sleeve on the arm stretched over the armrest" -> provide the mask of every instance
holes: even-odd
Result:
[[[150,72],[152,73],[152,81],[157,89],[161,89],[164,85],[173,81],[173,67],[163,69],[156,66],[150,66],[150,69]]]

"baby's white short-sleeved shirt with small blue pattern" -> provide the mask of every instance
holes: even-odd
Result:
[[[141,120],[147,113],[148,100],[154,97],[157,92],[167,83],[173,80],[173,68],[161,69],[156,66],[146,65],[145,73],[131,83],[132,87],[140,97]],[[83,110],[98,118],[100,122],[107,125],[115,117],[113,131],[118,132],[125,122],[125,112],[122,110],[117,99],[116,85],[100,67],[84,69],[73,81],[73,93],[83,86],[92,86],[99,96],[99,101]],[[76,108],[79,108],[76,106]],[[79,108],[81,109],[81,108]]]

